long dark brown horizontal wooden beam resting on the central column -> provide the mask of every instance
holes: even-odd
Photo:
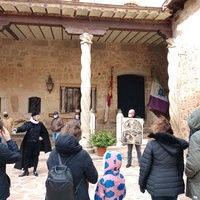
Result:
[[[56,16],[38,15],[0,15],[0,21],[8,21],[11,24],[37,25],[37,26],[62,26],[70,34],[79,34],[80,30],[90,30],[94,35],[102,35],[106,30],[126,30],[172,32],[170,20],[135,20],[135,19],[87,19],[87,18],[67,18]],[[81,32],[83,33],[83,32]]]

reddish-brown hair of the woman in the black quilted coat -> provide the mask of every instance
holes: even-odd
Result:
[[[166,119],[164,116],[160,116],[158,120],[151,126],[151,130],[153,133],[158,132],[169,132],[172,133],[171,124],[169,123],[169,120]]]

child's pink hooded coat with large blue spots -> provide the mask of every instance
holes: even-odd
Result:
[[[120,173],[122,156],[116,151],[104,154],[104,175],[98,181],[95,200],[121,200],[126,195],[125,178]]]

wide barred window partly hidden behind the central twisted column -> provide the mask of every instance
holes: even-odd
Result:
[[[81,89],[80,87],[60,87],[61,113],[76,112],[81,110]],[[96,87],[91,89],[90,109],[96,110]]]

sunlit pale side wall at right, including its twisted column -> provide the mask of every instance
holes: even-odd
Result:
[[[200,107],[200,2],[188,0],[173,18],[168,55],[171,123],[175,133],[188,139],[187,116]]]

